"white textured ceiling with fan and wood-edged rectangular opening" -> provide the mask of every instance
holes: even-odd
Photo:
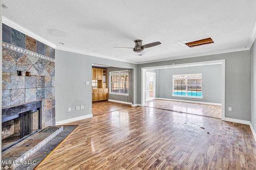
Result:
[[[241,51],[255,39],[255,0],[2,0],[4,18],[56,45],[97,57],[149,63]],[[215,43],[183,43],[211,37]],[[162,44],[136,56],[134,40]],[[64,43],[60,45],[59,42]]]

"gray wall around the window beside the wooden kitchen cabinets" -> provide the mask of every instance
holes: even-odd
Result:
[[[133,96],[133,69],[131,68],[118,68],[118,67],[108,67],[108,88],[110,88],[110,85],[109,85],[109,80],[110,80],[110,77],[109,77],[109,72],[112,72],[112,71],[122,71],[122,70],[130,70],[130,72],[128,73],[128,76],[129,76],[129,96],[123,96],[123,95],[116,95],[116,94],[109,94],[108,95],[108,99],[110,100],[118,100],[118,101],[122,101],[122,102],[130,102],[132,103],[132,96]]]

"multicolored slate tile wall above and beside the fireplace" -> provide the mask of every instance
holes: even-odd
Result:
[[[55,125],[55,49],[4,24],[2,35],[2,108],[42,100],[42,128]]]

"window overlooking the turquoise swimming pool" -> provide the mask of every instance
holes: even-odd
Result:
[[[173,75],[172,84],[172,96],[202,98],[202,74]]]

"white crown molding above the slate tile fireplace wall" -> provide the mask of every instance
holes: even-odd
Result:
[[[39,37],[35,33],[32,33],[28,29],[18,25],[17,23],[14,23],[13,21],[5,18],[4,16],[2,16],[2,23],[4,23],[5,25],[8,25],[9,27],[12,27],[13,29],[16,29],[16,30],[18,30],[18,31],[20,31],[20,32],[22,32],[22,33],[24,33],[24,34],[26,34],[26,35],[28,35],[28,36],[30,36],[30,37],[40,41],[40,42],[42,42],[42,43],[52,47],[52,48],[54,48],[54,49],[56,48],[55,44],[51,43],[50,41],[47,41],[46,39],[44,39],[42,37]]]

